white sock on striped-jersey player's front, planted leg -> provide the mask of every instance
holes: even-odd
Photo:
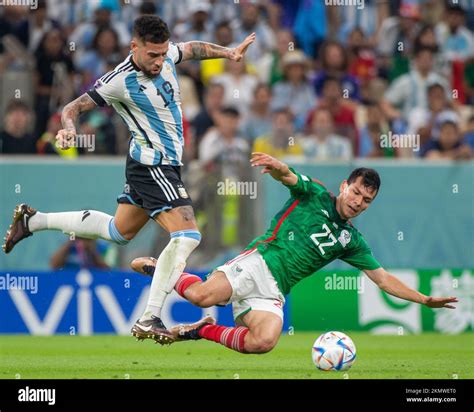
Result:
[[[186,267],[186,260],[201,241],[201,234],[196,230],[181,230],[170,235],[170,242],[156,262],[147,307],[140,320],[150,319],[152,315],[161,316],[166,296],[173,290]]]

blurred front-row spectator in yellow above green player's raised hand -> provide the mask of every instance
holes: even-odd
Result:
[[[288,156],[303,155],[299,138],[295,136],[293,114],[289,109],[282,108],[272,113],[272,128],[269,133],[255,139],[254,152],[267,153],[278,159]]]

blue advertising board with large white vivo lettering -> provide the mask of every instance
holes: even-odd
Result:
[[[132,272],[95,269],[0,272],[0,333],[128,335],[146,306],[150,283]],[[287,329],[287,308],[285,313]],[[206,314],[218,324],[234,324],[231,305],[199,308],[174,291],[162,319],[170,327]]]

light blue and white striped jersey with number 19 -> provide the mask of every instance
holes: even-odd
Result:
[[[130,156],[144,165],[182,165],[183,116],[175,67],[181,59],[181,50],[170,42],[161,72],[152,78],[130,55],[88,92],[96,104],[111,105],[122,117],[132,134]]]

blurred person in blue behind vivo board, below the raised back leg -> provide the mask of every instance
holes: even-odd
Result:
[[[107,242],[94,239],[77,238],[67,240],[54,252],[49,261],[53,270],[58,269],[110,269],[104,256],[109,245]]]

